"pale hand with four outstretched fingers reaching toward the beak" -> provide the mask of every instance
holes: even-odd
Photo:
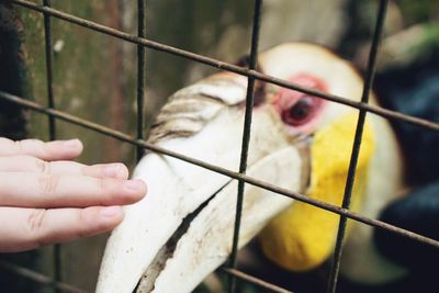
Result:
[[[146,194],[123,164],[82,165],[78,139],[0,137],[0,252],[15,252],[113,229],[122,205]]]

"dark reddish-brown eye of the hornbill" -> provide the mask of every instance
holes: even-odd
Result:
[[[290,108],[282,111],[282,120],[289,125],[300,126],[311,121],[315,114],[318,99],[311,95],[304,95]]]

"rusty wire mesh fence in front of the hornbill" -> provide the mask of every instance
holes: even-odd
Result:
[[[50,1],[44,0],[43,5],[38,5],[33,2],[23,1],[23,0],[12,0],[14,4],[37,11],[43,13],[44,15],[44,31],[45,31],[45,52],[46,52],[46,70],[47,70],[47,93],[48,93],[48,106],[44,106],[42,104],[25,100],[23,98],[0,91],[0,99],[19,104],[25,109],[30,109],[42,114],[48,116],[49,120],[49,137],[50,139],[56,138],[56,128],[55,128],[55,119],[63,120],[79,126],[82,126],[87,129],[94,131],[97,133],[104,134],[106,136],[116,138],[119,140],[132,144],[137,147],[137,158],[140,158],[144,150],[148,149],[158,154],[162,154],[166,156],[170,156],[185,162],[196,165],[201,168],[204,168],[210,171],[214,171],[224,176],[227,176],[232,179],[238,180],[238,195],[237,195],[237,205],[236,205],[236,221],[235,221],[235,228],[234,228],[234,238],[233,238],[233,252],[230,256],[229,266],[230,268],[224,268],[223,271],[232,275],[229,291],[235,292],[234,280],[235,278],[239,278],[247,282],[254,283],[256,285],[262,286],[267,290],[273,292],[290,292],[282,288],[275,286],[263,280],[259,280],[255,277],[248,275],[237,269],[236,266],[236,256],[237,256],[237,247],[238,247],[238,235],[239,235],[239,226],[240,226],[240,214],[241,214],[241,204],[243,204],[243,196],[244,196],[244,187],[245,183],[252,184],[269,191],[272,191],[279,195],[284,195],[301,202],[305,202],[307,204],[320,207],[323,210],[329,211],[331,213],[340,215],[340,223],[338,229],[338,236],[336,241],[335,255],[334,255],[334,266],[331,268],[330,278],[328,282],[328,292],[336,292],[337,289],[337,280],[338,280],[338,269],[341,258],[341,243],[345,237],[345,229],[346,229],[346,222],[348,218],[354,219],[357,222],[361,222],[363,224],[382,228],[395,234],[403,235],[407,238],[414,239],[416,241],[432,246],[435,248],[439,248],[439,241],[431,239],[429,237],[425,237],[423,235],[396,227],[394,225],[390,225],[379,219],[369,218],[362,216],[361,214],[354,213],[349,210],[350,205],[350,194],[352,191],[352,183],[354,180],[354,170],[358,160],[359,149],[361,146],[361,136],[362,136],[362,128],[364,124],[364,119],[368,112],[374,113],[376,115],[386,117],[389,120],[398,120],[404,121],[407,123],[412,123],[414,125],[421,126],[427,129],[431,129],[435,132],[439,132],[439,124],[432,121],[427,121],[424,119],[419,119],[412,115],[406,115],[403,113],[398,113],[396,111],[391,111],[387,109],[383,109],[375,105],[368,104],[368,98],[370,90],[373,84],[373,76],[374,76],[374,67],[375,67],[375,59],[378,54],[378,48],[380,44],[380,36],[383,30],[383,23],[385,20],[385,11],[387,7],[389,0],[380,0],[379,12],[376,16],[376,25],[375,31],[372,37],[372,46],[370,50],[368,70],[365,75],[365,82],[362,93],[361,102],[354,102],[346,97],[338,97],[334,94],[328,94],[325,92],[320,92],[318,90],[308,89],[305,87],[301,87],[299,84],[274,78],[261,72],[256,71],[257,65],[257,52],[258,52],[258,35],[259,35],[259,26],[260,26],[260,9],[261,9],[261,0],[255,1],[255,11],[254,11],[254,25],[252,25],[252,38],[251,38],[251,47],[250,47],[250,63],[248,68],[244,68],[240,66],[227,64],[221,60],[216,60],[214,58],[210,58],[203,55],[198,55],[188,50],[183,50],[177,47],[172,47],[166,44],[153,42],[146,38],[146,23],[145,23],[145,0],[138,0],[137,2],[137,10],[138,10],[138,32],[137,35],[127,34],[114,29],[111,29],[105,25],[98,24],[92,21],[88,21],[59,10],[55,10],[50,8]],[[111,35],[113,37],[120,38],[122,41],[126,41],[130,43],[134,43],[137,45],[137,136],[132,137],[125,133],[112,129],[104,125],[100,125],[87,120],[82,120],[78,116],[71,115],[69,113],[58,111],[55,109],[54,102],[54,93],[53,93],[53,77],[52,77],[52,40],[50,40],[50,18],[61,19],[64,21],[74,23],[76,25],[80,25],[83,27],[88,27],[90,30],[97,31],[99,33],[103,33],[106,35]],[[245,115],[245,123],[244,123],[244,135],[243,135],[243,146],[241,146],[241,158],[240,158],[240,167],[239,171],[235,172],[233,170],[228,170],[218,166],[214,166],[207,164],[205,161],[201,161],[178,153],[175,153],[169,149],[165,149],[155,145],[151,145],[145,140],[144,133],[145,133],[145,117],[144,117],[144,89],[145,89],[145,78],[146,78],[146,66],[145,66],[145,48],[155,49],[158,52],[164,52],[166,54],[176,55],[182,58],[191,59],[196,63],[205,64],[215,68],[219,68],[223,70],[227,70],[230,72],[235,72],[248,78],[248,87],[247,87],[247,98],[246,98],[246,115]],[[255,87],[255,81],[261,80],[266,82],[270,82],[280,87],[284,87],[292,90],[302,91],[304,93],[308,93],[312,95],[319,97],[322,99],[341,103],[354,109],[359,110],[359,119],[357,124],[357,131],[353,142],[353,148],[351,153],[351,159],[349,165],[349,172],[345,188],[345,196],[341,207],[333,204],[328,204],[326,202],[322,202],[318,200],[311,199],[304,194],[289,191],[275,185],[272,185],[268,182],[263,182],[261,180],[257,180],[255,178],[248,177],[245,174],[246,172],[246,165],[247,165],[247,153],[248,153],[248,143],[249,143],[249,135],[250,135],[250,127],[251,127],[251,109],[252,109],[252,92]],[[59,261],[59,260],[58,260]],[[58,282],[60,280],[59,275],[56,277],[55,281],[52,281],[49,278],[41,275],[36,272],[32,272],[31,270],[26,270],[24,268],[19,268],[16,266],[12,266],[10,263],[0,263],[3,269],[14,271],[15,273],[22,274],[30,279],[33,279],[37,282],[49,284],[56,289],[66,291],[66,292],[83,292],[79,289],[75,289],[68,284],[63,284]],[[59,262],[58,262],[58,266]]]

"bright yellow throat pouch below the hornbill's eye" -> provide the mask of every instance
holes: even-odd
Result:
[[[348,114],[316,132],[311,146],[311,184],[307,195],[341,205],[358,114]],[[364,125],[351,210],[361,207],[373,155],[372,127]],[[295,202],[260,234],[264,255],[279,266],[306,271],[322,264],[334,250],[339,216]],[[349,226],[348,226],[349,232]]]

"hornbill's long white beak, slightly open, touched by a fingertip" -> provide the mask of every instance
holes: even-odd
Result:
[[[273,111],[268,104],[254,111],[247,174],[300,191],[304,162]],[[196,134],[159,145],[237,170],[243,112],[237,105],[223,106]],[[137,292],[190,292],[230,252],[237,181],[157,154],[142,159],[134,178],[147,183],[148,193],[125,209],[123,223],[112,233],[97,292],[133,292],[137,284]],[[239,247],[292,202],[246,184]]]

